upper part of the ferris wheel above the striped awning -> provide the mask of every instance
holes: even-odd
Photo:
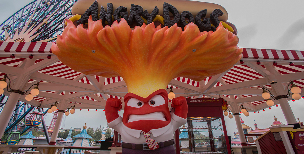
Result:
[[[64,18],[77,0],[34,0],[0,25],[0,40],[55,42]]]

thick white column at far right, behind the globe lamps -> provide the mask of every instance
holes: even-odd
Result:
[[[282,86],[282,83],[278,82],[276,84],[270,84],[270,85],[277,95],[286,95],[287,92],[285,92],[285,90]],[[297,120],[295,120],[295,115],[293,115],[293,112],[290,108],[288,100],[286,98],[282,98],[282,99],[279,99],[278,102],[279,102],[282,112],[285,116],[287,124],[297,123]]]

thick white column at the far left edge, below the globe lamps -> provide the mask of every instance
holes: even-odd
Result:
[[[15,110],[15,107],[20,98],[20,95],[21,94],[12,92],[9,95],[9,99],[7,100],[5,106],[0,114],[0,139],[2,138],[3,133],[5,132],[6,126],[9,123],[9,120],[11,119],[11,116]]]

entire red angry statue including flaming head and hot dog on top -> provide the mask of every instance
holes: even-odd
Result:
[[[75,71],[123,78],[128,89],[123,117],[118,115],[123,104],[114,98],[106,100],[105,115],[123,137],[124,154],[175,153],[173,132],[186,123],[188,105],[184,97],[174,98],[169,112],[169,82],[201,81],[241,58],[236,28],[217,4],[78,0],[72,14],[52,52]]]

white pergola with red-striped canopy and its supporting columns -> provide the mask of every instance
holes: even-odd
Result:
[[[4,95],[8,95],[9,99],[0,115],[0,138],[18,100],[40,108],[50,108],[57,101],[60,110],[72,105],[76,109],[105,109],[105,102],[109,97],[121,99],[123,102],[127,88],[121,77],[104,78],[76,72],[57,59],[51,52],[51,45],[50,42],[0,42],[0,78],[8,74],[12,79],[12,83],[8,83],[12,89],[22,91],[40,83],[40,93],[32,101],[26,101],[25,95],[10,93],[5,89]],[[16,58],[9,58],[12,54]],[[33,59],[29,59],[30,54],[34,56]],[[52,58],[47,59],[47,55]],[[286,95],[286,86],[291,80],[300,88],[304,87],[304,51],[243,48],[242,60],[244,64],[237,63],[222,74],[200,82],[175,78],[168,87],[174,86],[176,97],[224,98],[230,111],[237,114],[240,112],[240,105],[249,112],[268,107],[261,96],[262,87],[274,95]],[[257,65],[257,61],[261,65]],[[273,65],[274,61],[278,65]],[[289,66],[290,62],[294,66]],[[271,81],[277,83],[270,84]],[[300,95],[303,93],[304,91]],[[288,104],[291,99],[274,100],[275,105],[280,104],[288,124],[297,123]],[[56,142],[63,114],[58,114],[51,142]],[[241,143],[244,143],[245,136],[237,114],[234,117]]]

